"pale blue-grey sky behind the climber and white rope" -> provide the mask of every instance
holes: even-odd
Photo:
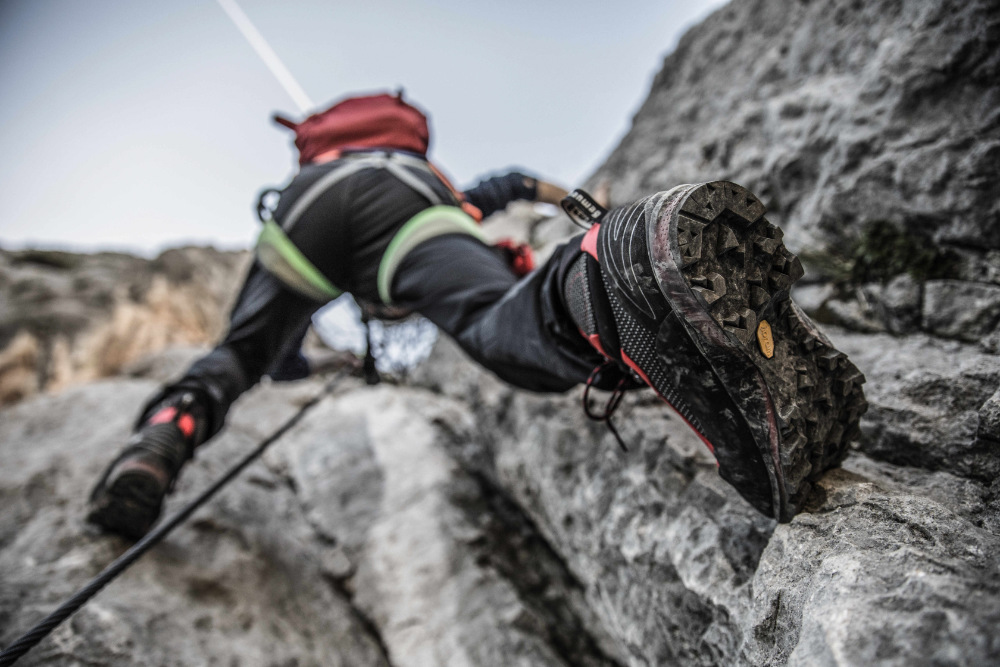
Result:
[[[460,184],[600,164],[698,2],[238,0],[306,93],[405,87]],[[245,247],[296,105],[215,0],[0,3],[0,246]]]

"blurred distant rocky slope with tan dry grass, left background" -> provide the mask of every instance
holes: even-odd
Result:
[[[0,250],[0,405],[119,373],[225,329],[246,252]]]

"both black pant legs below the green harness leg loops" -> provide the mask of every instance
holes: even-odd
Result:
[[[460,234],[440,236],[405,257],[392,296],[397,305],[431,320],[501,379],[530,391],[565,391],[586,381],[602,361],[562,303],[565,273],[579,253],[577,238],[518,279],[481,241]],[[214,435],[243,392],[295,355],[312,315],[323,305],[255,263],[233,307],[226,337],[180,380],[164,387],[145,412],[175,391],[194,391],[205,403],[209,434]]]

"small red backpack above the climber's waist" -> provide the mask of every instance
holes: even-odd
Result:
[[[300,165],[351,149],[395,148],[424,156],[430,144],[427,116],[404,102],[402,92],[351,97],[301,123],[277,114],[274,121],[295,131]]]

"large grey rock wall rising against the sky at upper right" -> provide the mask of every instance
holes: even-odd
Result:
[[[793,249],[866,221],[1000,249],[996,4],[737,1],[681,39],[590,179],[622,203],[728,178]]]

